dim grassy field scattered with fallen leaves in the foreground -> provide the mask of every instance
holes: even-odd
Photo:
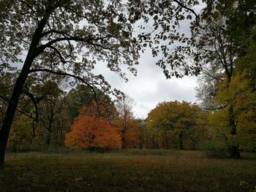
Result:
[[[7,154],[0,191],[256,191],[256,154],[200,151]]]

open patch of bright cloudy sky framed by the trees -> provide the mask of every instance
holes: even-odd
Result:
[[[189,101],[194,103],[197,77],[173,77],[166,80],[162,69],[156,66],[157,58],[149,51],[141,55],[138,74],[135,77],[127,72],[128,82],[124,82],[115,72],[110,72],[104,66],[97,65],[95,72],[104,74],[105,80],[112,88],[118,88],[134,100],[133,112],[135,118],[146,118],[148,112],[162,101]]]

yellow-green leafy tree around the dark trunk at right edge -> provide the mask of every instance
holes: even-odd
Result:
[[[236,121],[236,134],[230,135],[227,127],[228,108],[217,110],[211,115],[211,126],[217,130],[219,142],[225,142],[230,156],[233,156],[232,146],[236,145],[239,150],[255,150],[256,140],[256,93],[250,87],[250,81],[246,78],[246,71],[237,71],[230,82],[230,88],[222,82],[218,86],[216,102],[233,104],[233,114]]]

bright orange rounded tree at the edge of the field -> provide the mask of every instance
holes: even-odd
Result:
[[[71,131],[66,134],[65,145],[72,148],[119,148],[121,138],[107,120],[80,114]]]

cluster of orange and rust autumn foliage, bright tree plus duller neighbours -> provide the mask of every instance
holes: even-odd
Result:
[[[123,109],[125,108],[121,105]],[[138,145],[138,128],[129,111],[116,112],[116,117],[105,118],[107,109],[96,103],[82,107],[66,134],[65,145],[76,149],[118,149]],[[119,109],[121,110],[121,109]],[[129,114],[129,115],[128,115]]]

